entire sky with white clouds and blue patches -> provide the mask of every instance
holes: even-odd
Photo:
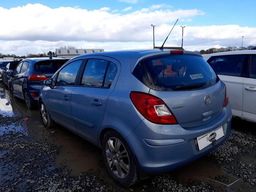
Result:
[[[60,46],[119,50],[166,46],[202,50],[256,46],[256,0],[0,0],[0,53],[24,55]],[[8,29],[8,30],[7,30]]]

